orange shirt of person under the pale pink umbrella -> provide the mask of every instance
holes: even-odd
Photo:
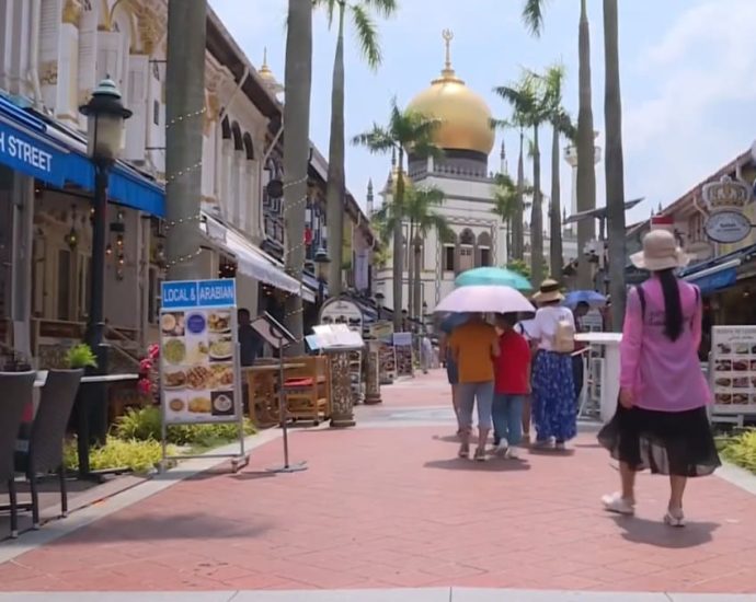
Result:
[[[493,380],[491,348],[499,345],[493,326],[485,322],[467,322],[451,332],[448,345],[457,358],[460,383]]]

